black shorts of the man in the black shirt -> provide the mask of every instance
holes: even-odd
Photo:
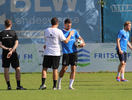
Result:
[[[2,53],[2,67],[9,68],[10,64],[13,68],[19,67],[19,58],[16,52],[13,52],[10,58],[7,58],[7,53]]]

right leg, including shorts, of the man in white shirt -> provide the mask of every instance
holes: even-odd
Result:
[[[58,79],[58,68],[59,68],[60,56],[53,57],[53,90],[56,90],[56,83]]]

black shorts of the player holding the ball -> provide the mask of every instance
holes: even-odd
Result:
[[[69,54],[63,54],[63,58],[62,58],[62,65],[64,66],[77,66],[77,60],[78,60],[78,54],[77,52],[74,53],[69,53]]]

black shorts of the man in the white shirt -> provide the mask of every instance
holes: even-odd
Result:
[[[45,55],[43,59],[43,68],[58,69],[60,56]]]

